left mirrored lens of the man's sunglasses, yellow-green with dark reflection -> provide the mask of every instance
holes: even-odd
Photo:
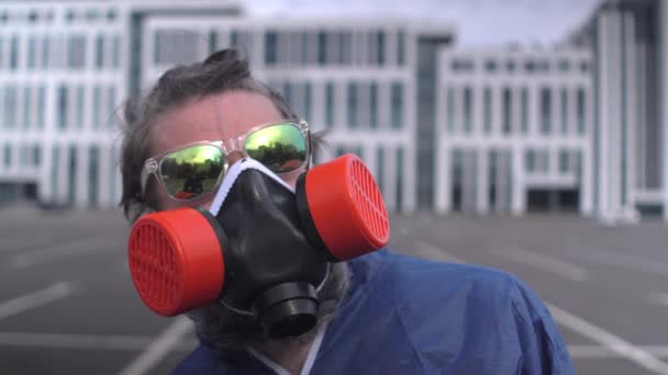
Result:
[[[223,172],[223,160],[218,147],[188,147],[163,158],[160,177],[171,196],[192,200],[213,190]]]

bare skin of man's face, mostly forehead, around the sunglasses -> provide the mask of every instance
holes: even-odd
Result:
[[[246,134],[250,128],[280,122],[280,112],[265,95],[248,91],[232,91],[204,96],[169,112],[152,127],[151,155],[158,155],[179,146],[200,140],[227,140]],[[243,157],[234,151],[227,157],[232,164]],[[299,173],[283,177],[294,188]],[[156,186],[157,184],[153,184]],[[185,205],[197,205],[209,209],[215,194],[202,200],[181,203],[170,200],[162,186],[149,194],[157,194],[159,209],[174,209]]]

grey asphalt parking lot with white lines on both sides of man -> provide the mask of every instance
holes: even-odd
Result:
[[[196,345],[141,303],[119,212],[0,208],[0,373],[165,374]],[[579,374],[668,374],[668,230],[575,216],[392,218],[390,248],[512,272],[548,303]]]

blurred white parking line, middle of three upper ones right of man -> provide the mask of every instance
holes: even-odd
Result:
[[[491,252],[494,255],[508,258],[520,264],[530,265],[577,282],[589,280],[589,272],[575,264],[559,259],[526,251],[523,249],[501,249]]]

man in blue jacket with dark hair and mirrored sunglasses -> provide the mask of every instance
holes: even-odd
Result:
[[[215,216],[222,209],[220,201],[230,201],[221,197],[222,186],[229,182],[225,189],[233,192],[243,184],[241,178],[230,180],[232,170],[241,171],[240,160],[253,159],[267,169],[264,178],[248,181],[277,179],[286,189],[294,189],[311,168],[312,149],[320,143],[307,122],[294,118],[279,94],[250,76],[247,61],[234,49],[168,70],[146,98],[126,105],[122,159],[126,216],[134,221],[147,212],[179,207],[200,207]],[[290,160],[276,162],[268,155],[277,152],[261,149],[272,145],[264,140],[267,129],[292,132],[281,138],[289,139],[291,151],[278,152]],[[255,141],[264,144],[259,147]],[[200,156],[187,157],[193,152],[209,156],[210,166],[218,163],[219,179],[196,196],[179,198],[175,181],[180,180],[160,168],[197,162]],[[253,183],[244,189],[255,192]],[[237,190],[240,217],[216,216],[227,226],[246,223],[242,216],[257,211],[244,208],[244,190]],[[270,230],[264,225],[237,229],[230,241],[263,238]],[[189,310],[201,344],[175,373],[574,373],[544,304],[508,273],[426,262],[388,250],[331,262],[327,270],[316,288],[316,322],[297,336],[272,337],[257,316],[229,303],[229,289],[223,289],[220,300]]]

